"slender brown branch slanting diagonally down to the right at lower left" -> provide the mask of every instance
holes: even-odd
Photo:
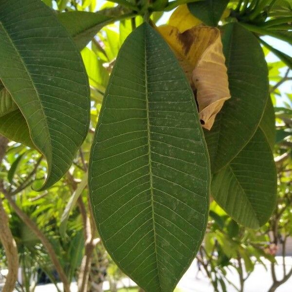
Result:
[[[45,249],[47,250],[49,256],[51,257],[51,260],[55,266],[55,269],[63,282],[64,285],[64,291],[70,292],[70,284],[68,282],[67,276],[58,260],[57,255],[55,254],[55,250],[48,240],[48,238],[38,229],[37,224],[30,219],[21,209],[18,208],[18,205],[15,203],[15,201],[12,199],[11,194],[6,192],[5,189],[3,189],[2,182],[0,182],[0,190],[3,192],[5,199],[9,202],[9,204],[12,206],[18,217],[34,232],[34,234],[39,238]]]

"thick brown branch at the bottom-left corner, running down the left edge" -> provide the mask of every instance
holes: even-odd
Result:
[[[0,241],[5,250],[8,261],[8,275],[6,277],[3,292],[12,292],[15,287],[18,274],[18,251],[16,242],[9,228],[8,216],[0,198]]]

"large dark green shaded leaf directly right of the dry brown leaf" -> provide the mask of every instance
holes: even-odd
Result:
[[[212,172],[227,165],[252,138],[269,97],[268,68],[256,37],[230,23],[223,27],[222,42],[231,98],[213,128],[205,131]]]

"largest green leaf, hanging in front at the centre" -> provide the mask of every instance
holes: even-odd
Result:
[[[91,147],[89,194],[110,256],[146,292],[172,292],[206,229],[209,160],[194,96],[144,23],[124,42]]]

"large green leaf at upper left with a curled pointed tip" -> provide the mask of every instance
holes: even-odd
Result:
[[[17,9],[16,9],[17,7]],[[40,0],[1,0],[0,78],[48,163],[41,189],[67,171],[90,121],[88,78],[80,53]]]

